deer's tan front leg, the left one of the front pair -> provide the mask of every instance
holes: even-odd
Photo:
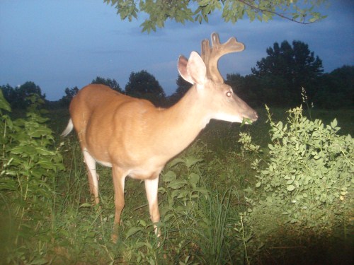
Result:
[[[115,216],[113,223],[113,242],[118,240],[118,228],[120,225],[120,213],[124,208],[124,185],[126,175],[118,167],[112,169],[113,186],[114,186],[114,204],[115,204]]]

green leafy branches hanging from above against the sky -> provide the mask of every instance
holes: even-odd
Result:
[[[148,18],[142,23],[142,31],[163,28],[167,19],[184,24],[185,21],[208,21],[211,13],[221,13],[226,22],[236,23],[247,16],[249,20],[268,21],[275,16],[295,21],[297,23],[313,23],[324,18],[315,10],[324,0],[311,0],[298,3],[294,0],[277,1],[243,1],[243,0],[183,0],[183,1],[133,1],[133,0],[103,0],[115,6],[122,20],[137,18],[139,12],[147,13]]]

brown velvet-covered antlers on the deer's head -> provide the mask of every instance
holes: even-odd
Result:
[[[244,44],[237,42],[235,37],[230,37],[224,44],[220,43],[219,35],[212,33],[212,47],[209,40],[202,40],[202,60],[207,66],[207,76],[216,83],[224,83],[224,78],[217,69],[217,61],[224,54],[231,52],[241,52],[244,50]]]

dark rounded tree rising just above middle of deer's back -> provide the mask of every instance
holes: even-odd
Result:
[[[159,106],[164,105],[166,100],[164,89],[161,88],[159,81],[145,70],[130,73],[129,81],[125,86],[125,93],[133,97],[150,100]]]

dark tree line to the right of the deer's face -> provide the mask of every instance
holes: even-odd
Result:
[[[315,107],[353,107],[354,66],[323,73],[322,61],[304,42],[275,42],[268,56],[247,76],[228,74],[226,82],[250,104],[294,107],[307,100]]]

